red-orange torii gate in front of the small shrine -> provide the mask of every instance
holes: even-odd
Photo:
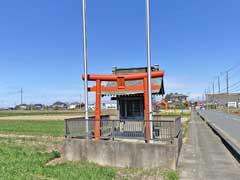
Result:
[[[153,71],[151,72],[152,78],[159,78],[164,76],[164,71]],[[82,75],[82,79],[85,76]],[[100,140],[100,120],[101,120],[101,92],[102,91],[144,91],[144,111],[145,111],[145,122],[146,122],[146,140],[150,140],[150,124],[149,124],[149,113],[148,113],[148,79],[147,72],[135,73],[135,74],[110,74],[110,75],[88,75],[88,81],[96,81],[96,86],[88,88],[90,92],[96,92],[96,110],[95,110],[95,121],[94,121],[94,135],[95,140]],[[125,81],[143,80],[143,85],[138,86],[125,86]],[[102,81],[116,81],[117,86],[106,87],[102,86]],[[153,85],[152,89],[160,89],[160,85]]]

